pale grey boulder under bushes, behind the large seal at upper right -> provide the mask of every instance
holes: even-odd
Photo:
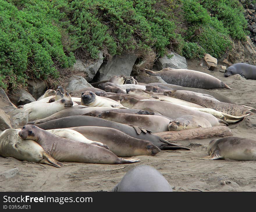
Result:
[[[165,68],[173,69],[188,69],[186,58],[176,54],[175,52],[168,52],[169,55],[173,55],[172,58],[168,58],[164,55],[162,58],[158,58],[156,65],[159,70]]]

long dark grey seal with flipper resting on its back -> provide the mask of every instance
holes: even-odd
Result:
[[[131,137],[150,141],[161,150],[175,150],[175,149],[189,150],[189,148],[186,148],[184,146],[181,146],[175,143],[170,143],[159,136],[151,134],[150,132],[147,132],[147,130],[143,129],[142,127],[138,127],[138,126],[130,127],[125,124],[120,124],[114,121],[108,121],[103,118],[97,118],[93,116],[68,116],[64,118],[58,118],[55,120],[47,121],[42,124],[37,124],[36,126],[44,130],[68,128],[68,127],[81,127],[81,126],[111,127],[116,130],[120,130],[121,132],[124,132],[125,134]]]

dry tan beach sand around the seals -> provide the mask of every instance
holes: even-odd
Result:
[[[232,90],[214,89],[238,104],[256,107],[256,80],[224,77],[209,71],[201,61],[188,61],[188,68],[209,73],[227,83]],[[256,116],[230,125],[234,136],[255,139]],[[18,167],[19,175],[0,176],[0,191],[110,191],[132,167],[147,164],[166,177],[173,191],[256,191],[255,161],[200,160],[207,156],[210,139],[177,141],[191,150],[161,151],[156,156],[138,156],[135,164],[68,163],[63,168],[0,157],[0,173]],[[197,189],[197,190],[195,190]]]

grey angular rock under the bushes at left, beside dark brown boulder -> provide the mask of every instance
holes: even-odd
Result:
[[[10,101],[16,106],[25,105],[27,103],[31,103],[35,101],[34,97],[24,89],[19,89],[19,90],[10,92],[8,93],[8,97]]]

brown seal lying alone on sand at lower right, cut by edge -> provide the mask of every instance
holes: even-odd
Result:
[[[232,159],[237,161],[256,160],[256,140],[228,136],[210,141],[207,152],[209,156],[200,158],[207,160]]]

